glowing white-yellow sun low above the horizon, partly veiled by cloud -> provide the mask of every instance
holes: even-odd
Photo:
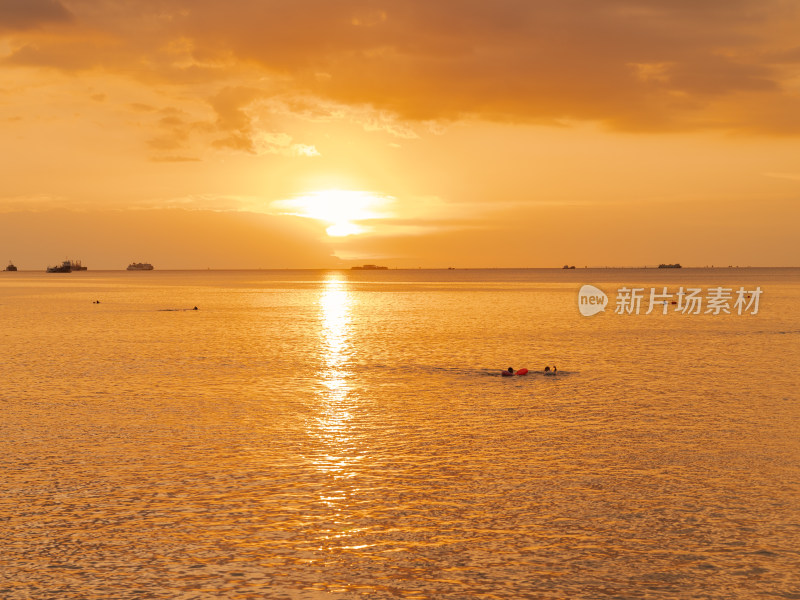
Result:
[[[364,221],[389,216],[387,206],[394,199],[372,192],[357,190],[319,190],[289,200],[279,200],[273,206],[283,214],[315,219],[328,224],[326,233],[344,237],[369,233],[372,228]]]

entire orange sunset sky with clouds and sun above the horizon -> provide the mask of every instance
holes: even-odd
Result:
[[[800,262],[795,0],[0,0],[0,131],[21,269]]]

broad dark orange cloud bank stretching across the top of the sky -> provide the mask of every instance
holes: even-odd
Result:
[[[800,133],[792,117],[800,15],[780,0],[69,6],[1,2],[0,21],[16,34],[4,64],[184,85],[229,130],[218,143],[244,150],[252,148],[242,107],[291,96],[408,120]],[[49,37],[21,31],[48,23],[61,23]],[[742,101],[747,112],[737,110]]]

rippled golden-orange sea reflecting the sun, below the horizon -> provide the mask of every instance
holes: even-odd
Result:
[[[799,308],[791,268],[0,273],[0,598],[798,599]]]

